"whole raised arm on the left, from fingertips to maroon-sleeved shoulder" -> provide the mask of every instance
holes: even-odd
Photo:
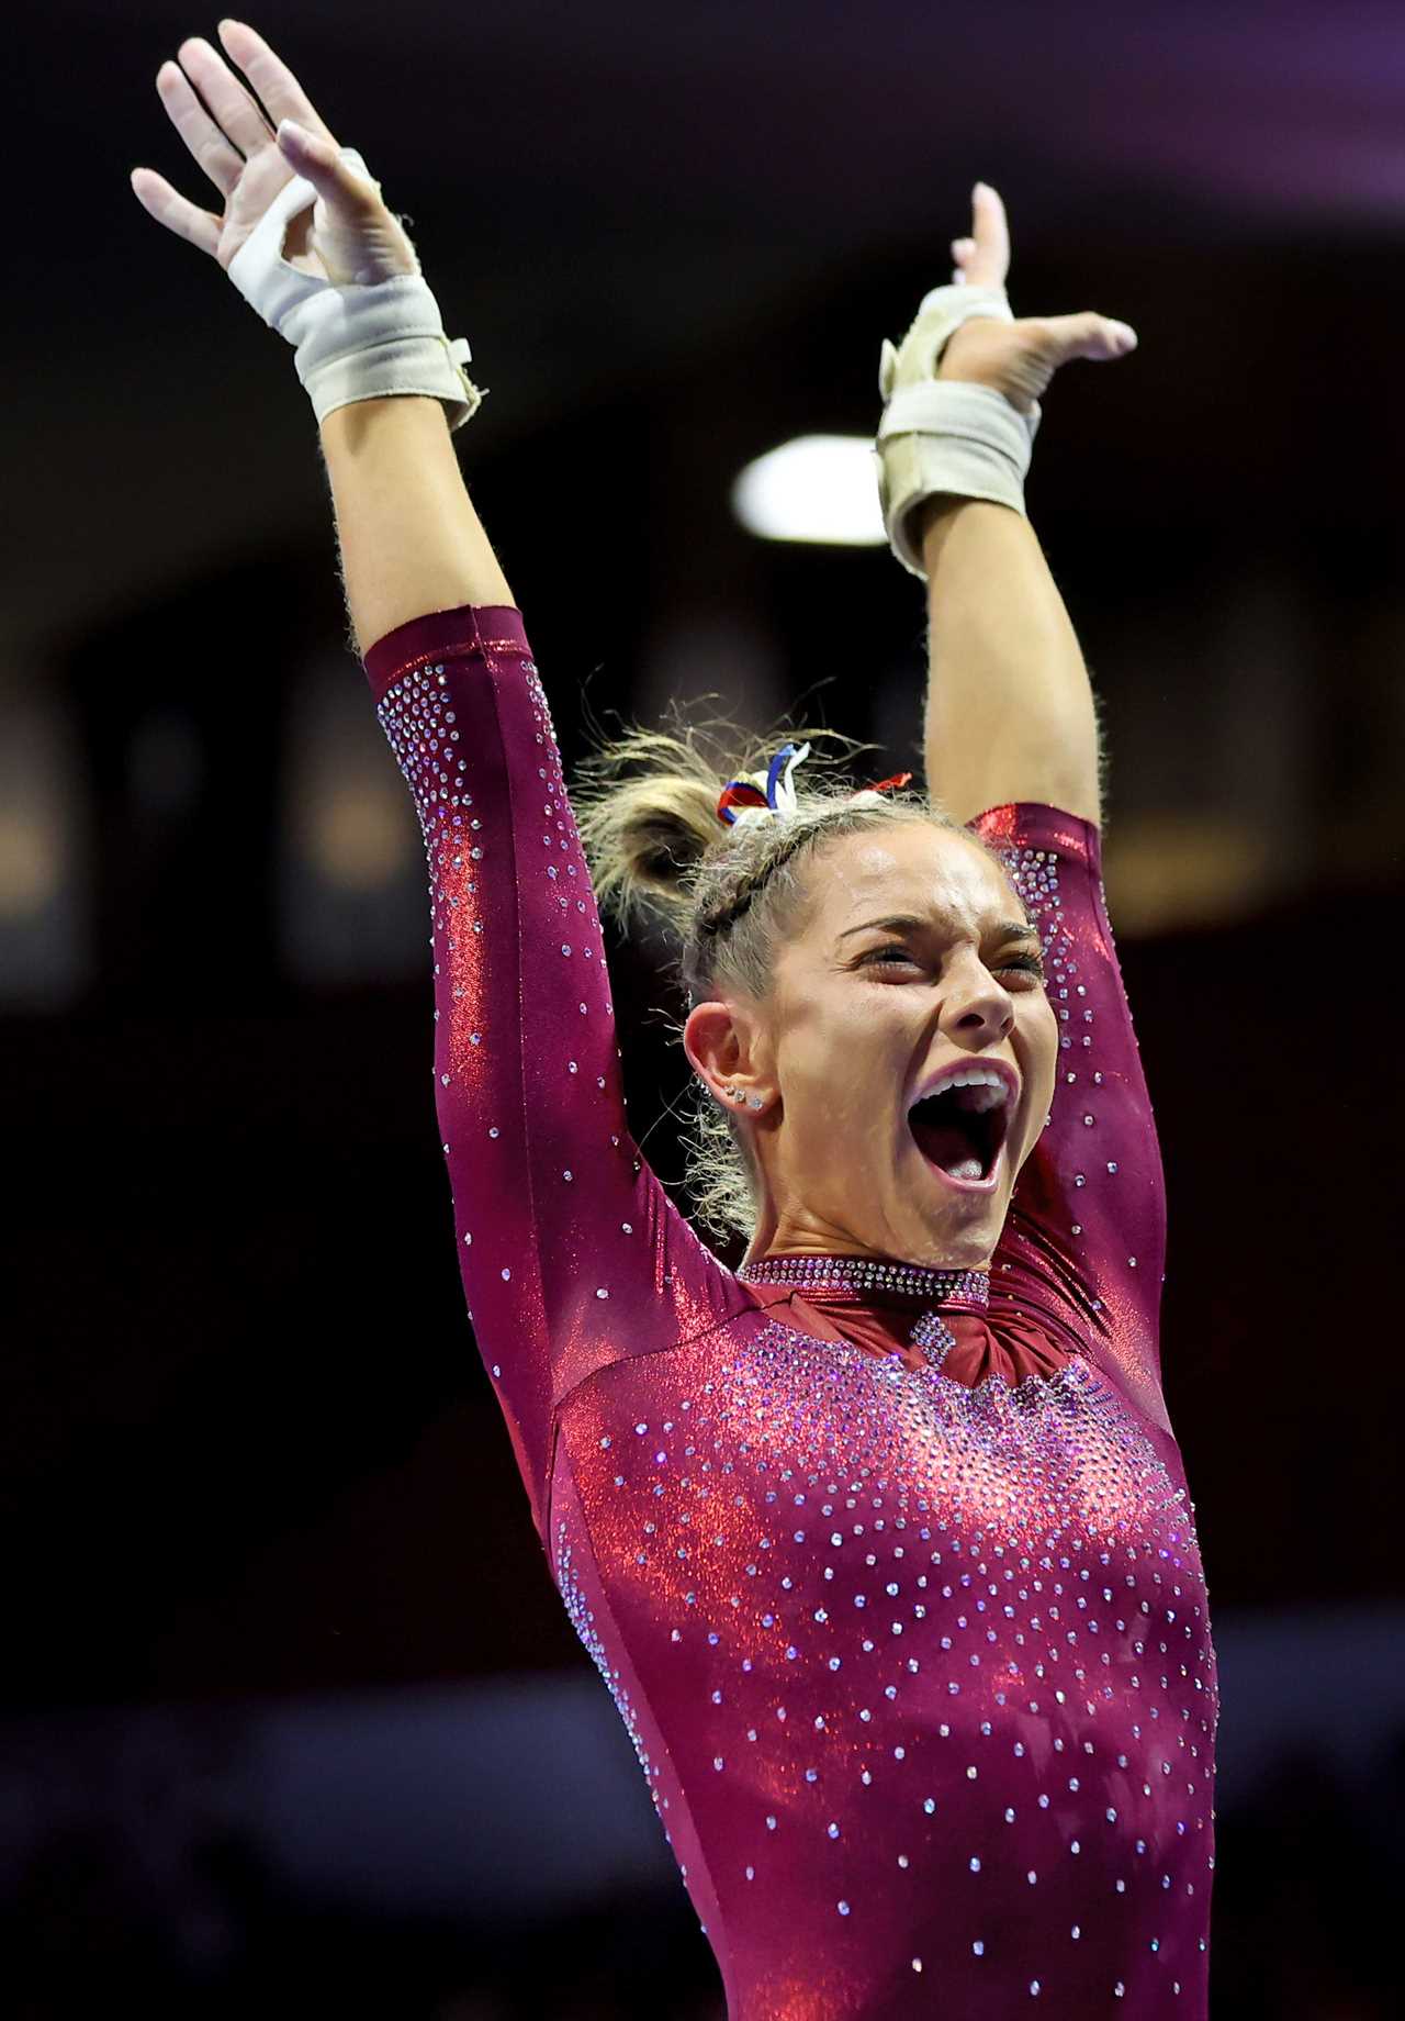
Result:
[[[238,22],[220,32],[277,141],[222,57],[192,38],[157,89],[224,212],[198,210],[153,170],[135,170],[133,188],[222,267],[244,247],[260,255],[246,299],[291,340],[283,309],[303,301],[299,376],[319,414],[351,622],[426,845],[454,1247],[545,1544],[561,1399],[749,1300],[630,1140],[551,711],[450,441],[446,414],[466,418],[460,394],[476,388],[444,370],[442,327],[426,338],[418,265],[380,186],[343,160],[260,36]]]

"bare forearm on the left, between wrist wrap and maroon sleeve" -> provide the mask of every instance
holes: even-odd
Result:
[[[321,426],[357,651],[430,610],[513,604],[438,400],[355,400]]]

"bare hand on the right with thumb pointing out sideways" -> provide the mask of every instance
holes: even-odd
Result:
[[[953,238],[951,257],[957,263],[953,281],[1005,285],[1009,226],[999,192],[985,182],[977,182],[971,196],[971,236]],[[971,315],[941,354],[937,378],[993,386],[1019,414],[1028,414],[1070,358],[1124,358],[1134,348],[1134,329],[1092,309],[1082,315],[1030,315],[1015,323]]]

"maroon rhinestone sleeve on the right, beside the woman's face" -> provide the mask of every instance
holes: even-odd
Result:
[[[1090,821],[1011,802],[969,827],[1007,863],[1040,928],[1060,1053],[1050,1122],[1030,1154],[991,1271],[991,1306],[1092,1342],[1163,1431],[1165,1178]]]

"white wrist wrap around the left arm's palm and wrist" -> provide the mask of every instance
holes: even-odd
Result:
[[[375,180],[355,148],[339,154],[367,182]],[[450,430],[462,426],[487,388],[462,370],[472,358],[468,340],[450,344],[444,335],[444,317],[422,275],[337,287],[283,259],[289,222],[315,202],[313,184],[295,176],[238,249],[228,275],[264,323],[297,348],[297,376],[319,424],[355,400],[424,394],[444,402]]]

